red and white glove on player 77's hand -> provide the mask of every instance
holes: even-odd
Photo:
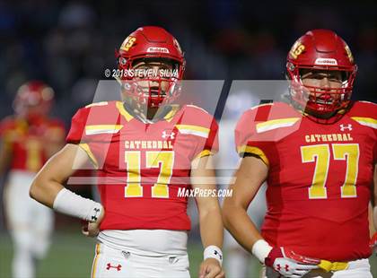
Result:
[[[289,248],[272,248],[265,259],[265,265],[272,267],[285,277],[299,278],[312,269],[319,268],[320,260],[301,256]]]

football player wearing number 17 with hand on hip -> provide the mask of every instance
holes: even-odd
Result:
[[[117,59],[123,101],[77,111],[66,147],[39,171],[31,196],[89,221],[83,232],[99,240],[93,277],[189,277],[188,196],[179,193],[215,189],[206,180],[215,178],[217,124],[203,109],[172,103],[185,60],[166,30],[137,29]],[[85,161],[97,169],[101,204],[62,185]],[[205,247],[199,276],[224,277],[218,200],[199,195],[196,201]]]

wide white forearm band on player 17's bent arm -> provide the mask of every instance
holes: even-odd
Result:
[[[96,222],[103,210],[100,203],[83,198],[66,188],[57,193],[53,208],[59,213],[65,213],[89,222]]]

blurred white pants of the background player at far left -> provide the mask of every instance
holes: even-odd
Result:
[[[35,261],[46,256],[54,225],[53,211],[31,199],[34,173],[13,170],[4,187],[5,217],[13,239],[13,277],[35,276]]]

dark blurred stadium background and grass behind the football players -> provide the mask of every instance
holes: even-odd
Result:
[[[18,86],[40,79],[55,89],[53,114],[68,128],[75,110],[92,101],[104,70],[115,67],[114,48],[143,25],[161,25],[180,41],[187,58],[186,79],[225,82],[284,79],[285,56],[294,40],[306,30],[332,29],[346,39],[359,65],[353,98],[376,101],[373,1],[0,1],[0,118],[13,113]],[[91,194],[87,187],[73,189]],[[193,226],[190,268],[196,277],[202,251],[195,219]],[[88,277],[93,246],[93,240],[80,235],[77,220],[57,215],[53,245],[38,277]],[[10,277],[11,256],[2,208],[0,277]],[[371,263],[377,275],[375,257]],[[257,276],[258,270],[253,273]]]

